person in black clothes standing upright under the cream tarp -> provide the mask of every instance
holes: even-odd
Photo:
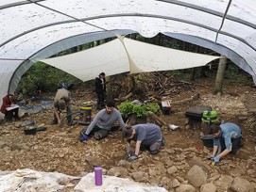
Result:
[[[95,78],[95,92],[97,94],[97,108],[102,109],[105,107],[106,99],[106,78],[105,72],[101,72]]]

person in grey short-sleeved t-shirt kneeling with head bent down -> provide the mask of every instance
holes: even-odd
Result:
[[[143,148],[148,149],[151,154],[156,154],[162,147],[161,128],[156,124],[145,123],[128,126],[123,131],[123,136],[127,140],[129,161],[136,160]],[[130,140],[136,141],[134,154],[131,154]]]

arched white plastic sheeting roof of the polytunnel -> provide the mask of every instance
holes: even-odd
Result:
[[[0,26],[0,97],[35,61],[134,32],[193,42],[256,72],[255,0],[1,0]]]

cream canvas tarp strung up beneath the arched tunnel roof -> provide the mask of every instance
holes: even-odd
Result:
[[[119,38],[97,47],[54,58],[44,63],[73,74],[82,81],[94,79],[100,72],[158,72],[204,66],[219,58],[179,51],[145,42]]]

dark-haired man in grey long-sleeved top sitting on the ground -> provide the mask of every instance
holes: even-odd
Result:
[[[80,141],[87,140],[88,136],[94,135],[96,140],[100,140],[109,135],[114,121],[117,120],[121,128],[125,129],[125,122],[121,113],[114,108],[114,102],[110,101],[106,104],[105,109],[101,109],[91,124],[80,134]]]

